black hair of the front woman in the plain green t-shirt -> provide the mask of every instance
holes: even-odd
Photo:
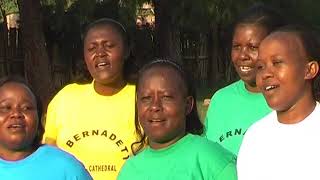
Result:
[[[148,64],[144,65],[139,71],[136,89],[139,88],[139,85],[140,85],[139,82],[144,77],[145,72],[155,67],[172,68],[180,75],[183,81],[183,84],[186,88],[186,95],[192,96],[194,99],[193,108],[191,112],[186,116],[186,132],[191,134],[202,135],[204,131],[204,126],[199,118],[199,114],[197,110],[196,90],[193,86],[193,80],[190,76],[190,73],[187,73],[187,71],[184,69],[182,65],[180,65],[177,62],[166,60],[166,59],[155,59],[149,62]],[[141,129],[137,112],[136,112],[136,118],[135,118],[135,127],[136,127],[136,132],[140,139],[131,145],[131,149],[134,154],[137,154],[147,144],[146,135],[143,133],[143,130]]]

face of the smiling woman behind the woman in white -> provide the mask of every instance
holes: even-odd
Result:
[[[240,78],[248,90],[255,87],[256,61],[260,42],[267,36],[262,26],[240,24],[235,28],[232,39],[231,59]],[[254,91],[254,90],[252,90]]]

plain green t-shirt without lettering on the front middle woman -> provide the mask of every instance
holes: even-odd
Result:
[[[129,158],[118,180],[236,180],[235,156],[221,145],[187,134],[167,148],[147,147]]]

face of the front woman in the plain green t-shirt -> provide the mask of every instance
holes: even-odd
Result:
[[[186,115],[193,106],[173,68],[153,67],[143,74],[137,92],[138,118],[154,149],[167,147],[186,133]]]

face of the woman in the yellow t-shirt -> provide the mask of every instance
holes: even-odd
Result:
[[[125,46],[113,25],[90,29],[84,39],[84,59],[96,83],[111,85],[123,81]]]

